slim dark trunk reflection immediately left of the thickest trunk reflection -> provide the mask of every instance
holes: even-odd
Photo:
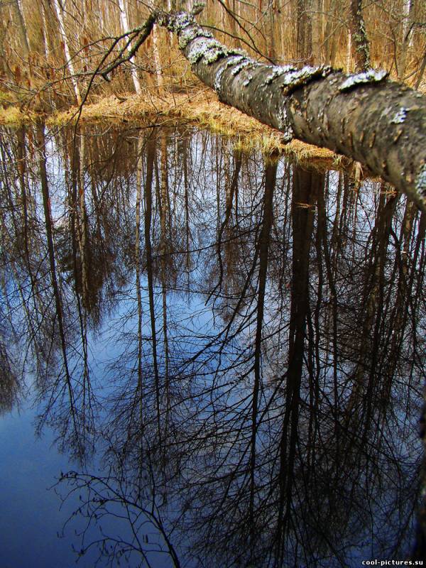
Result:
[[[240,157],[241,160],[241,157]],[[254,384],[253,401],[251,407],[251,453],[250,453],[250,526],[254,530],[254,493],[255,493],[255,469],[256,469],[256,433],[258,428],[258,397],[261,389],[261,346],[263,311],[265,307],[266,274],[268,272],[268,253],[271,240],[271,226],[273,219],[273,193],[277,175],[278,160],[267,160],[265,173],[265,193],[263,196],[263,220],[261,235],[258,241],[258,302],[256,310],[256,338],[254,342]],[[251,535],[251,547],[254,549],[255,534]],[[253,556],[253,550],[252,550]]]

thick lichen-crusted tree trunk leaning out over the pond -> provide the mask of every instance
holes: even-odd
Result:
[[[219,99],[284,133],[364,163],[426,212],[426,98],[386,72],[262,65],[229,50],[186,13],[157,13]]]

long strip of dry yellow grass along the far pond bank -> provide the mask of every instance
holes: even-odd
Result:
[[[283,143],[279,131],[261,124],[256,119],[222,104],[210,90],[199,89],[185,94],[153,95],[146,90],[142,96],[107,97],[84,106],[81,116],[77,109],[54,114],[48,124],[62,126],[75,123],[79,116],[82,123],[92,121],[154,121],[167,124],[170,119],[180,119],[198,124],[215,133],[236,138],[235,145],[241,151],[253,148],[265,154],[290,153],[301,161],[313,161],[324,165],[338,165],[340,157],[327,148],[317,148],[300,141]]]

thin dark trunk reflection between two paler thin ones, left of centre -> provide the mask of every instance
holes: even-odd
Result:
[[[145,202],[145,250],[146,250],[146,273],[148,278],[149,314],[151,319],[151,339],[153,345],[153,368],[155,403],[157,413],[158,442],[162,446],[160,425],[160,376],[158,373],[157,360],[157,332],[155,329],[155,305],[154,305],[154,282],[153,282],[153,250],[151,245],[151,220],[153,212],[153,173],[155,160],[155,138],[149,138],[146,152],[146,182],[144,191]]]

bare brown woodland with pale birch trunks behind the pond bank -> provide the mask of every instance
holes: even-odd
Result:
[[[168,0],[167,10],[191,9]],[[155,5],[157,6],[157,5]],[[178,40],[164,28],[134,57],[93,77],[99,65],[130,55],[138,26],[154,5],[139,0],[4,0],[0,21],[0,102],[50,113],[112,94],[141,102],[201,89]],[[278,65],[329,64],[359,70],[360,33],[368,38],[364,65],[426,90],[426,4],[422,0],[207,0],[198,18],[226,45]],[[107,78],[107,80],[105,80]],[[116,104],[116,100],[114,102]],[[170,101],[169,101],[170,104]]]

